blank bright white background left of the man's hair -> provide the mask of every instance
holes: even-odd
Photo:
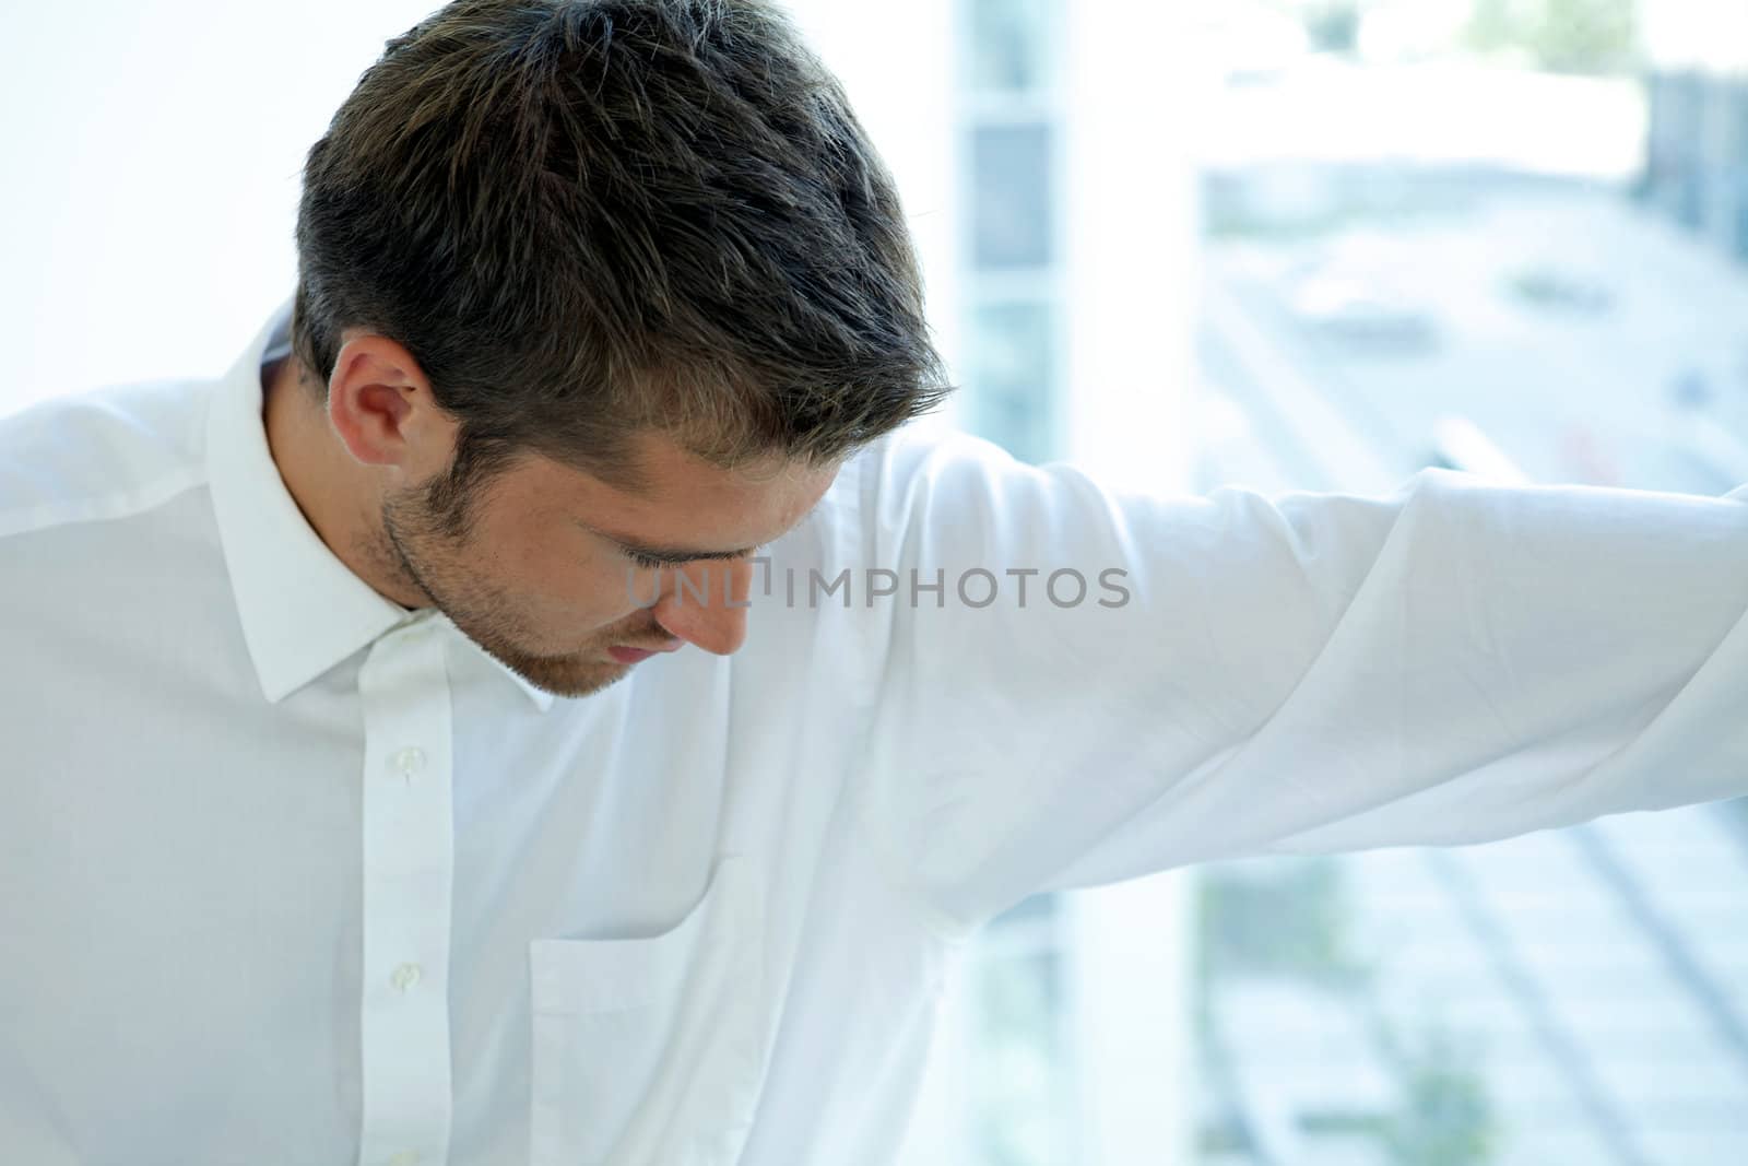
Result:
[[[222,372],[295,278],[297,175],[421,0],[9,5],[0,414]]]

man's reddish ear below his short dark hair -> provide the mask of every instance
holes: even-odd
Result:
[[[449,465],[454,451],[454,420],[437,406],[413,353],[386,336],[346,332],[327,413],[353,458],[397,468],[409,484]]]

